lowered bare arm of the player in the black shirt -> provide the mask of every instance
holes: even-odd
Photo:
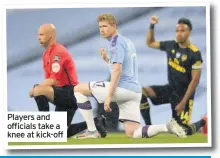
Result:
[[[186,91],[182,101],[176,106],[176,110],[178,112],[177,113],[178,115],[185,109],[185,105],[187,103],[187,100],[189,100],[189,98],[191,97],[193,92],[195,92],[196,87],[198,86],[199,81],[200,81],[201,71],[202,71],[202,69],[192,71],[192,80],[187,88],[187,91]]]

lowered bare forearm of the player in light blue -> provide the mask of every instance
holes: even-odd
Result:
[[[108,91],[108,97],[104,103],[104,109],[106,112],[112,111],[112,109],[110,108],[110,103],[112,100],[112,96],[115,93],[115,90],[118,86],[118,81],[120,80],[121,72],[122,72],[122,65],[119,63],[113,64],[113,71],[111,74],[111,82]]]

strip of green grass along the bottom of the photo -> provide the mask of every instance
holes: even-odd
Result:
[[[124,133],[109,133],[102,139],[67,139],[67,142],[9,142],[10,146],[17,145],[87,145],[87,144],[162,144],[162,143],[207,143],[208,138],[196,133],[187,138],[178,138],[175,135],[160,134],[152,138],[132,139]]]

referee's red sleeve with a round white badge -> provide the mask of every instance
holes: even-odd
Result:
[[[59,55],[54,55],[52,60],[50,79],[59,80],[62,73],[64,58]]]

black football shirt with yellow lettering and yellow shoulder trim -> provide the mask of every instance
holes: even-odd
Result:
[[[183,96],[191,82],[192,70],[202,68],[201,53],[193,44],[180,48],[176,41],[161,41],[160,50],[167,53],[169,84]]]

